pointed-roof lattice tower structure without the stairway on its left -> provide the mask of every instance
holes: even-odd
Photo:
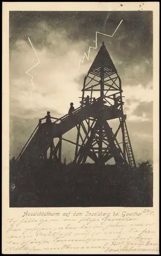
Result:
[[[84,163],[89,157],[95,163],[106,164],[113,158],[117,164],[135,167],[126,115],[123,113],[122,93],[121,79],[103,42],[84,78],[81,106],[85,105],[88,94],[90,108],[87,104],[85,107],[90,114],[77,125],[75,162]],[[109,125],[109,121],[114,119],[119,120],[115,132]],[[83,139],[81,131],[85,134]]]

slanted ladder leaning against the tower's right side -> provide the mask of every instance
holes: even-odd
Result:
[[[136,163],[135,163],[134,155],[132,152],[132,146],[131,146],[131,142],[130,142],[130,138],[129,138],[129,134],[127,131],[127,125],[126,125],[125,120],[124,120],[124,134],[125,134],[125,145],[126,145],[126,153],[127,153],[128,162],[129,162],[129,165],[131,168],[135,168]]]

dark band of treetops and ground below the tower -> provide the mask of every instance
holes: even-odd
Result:
[[[17,168],[10,161],[10,207],[148,207],[153,205],[149,161],[134,170],[116,165],[53,161]]]

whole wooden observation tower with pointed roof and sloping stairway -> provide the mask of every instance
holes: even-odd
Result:
[[[37,163],[47,157],[49,148],[50,158],[61,161],[62,136],[76,127],[76,142],[68,141],[76,145],[75,163],[90,158],[104,165],[113,159],[117,165],[135,168],[122,93],[121,79],[103,42],[84,78],[81,106],[50,125],[43,123],[45,118],[40,119],[17,163]],[[58,138],[57,144],[54,138]]]

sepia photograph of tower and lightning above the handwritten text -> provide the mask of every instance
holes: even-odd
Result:
[[[152,207],[153,12],[10,11],[9,112],[10,207]]]

